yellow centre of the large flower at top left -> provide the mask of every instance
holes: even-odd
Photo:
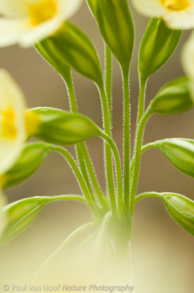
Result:
[[[30,22],[32,25],[39,25],[51,19],[57,12],[56,0],[41,0],[30,5]]]

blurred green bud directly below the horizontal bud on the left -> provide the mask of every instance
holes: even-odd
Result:
[[[25,144],[18,161],[1,176],[1,188],[9,188],[25,181],[37,171],[48,153],[48,147],[42,142]]]

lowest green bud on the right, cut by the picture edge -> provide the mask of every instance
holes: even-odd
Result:
[[[193,200],[176,193],[167,193],[161,198],[172,219],[184,230],[194,236]]]

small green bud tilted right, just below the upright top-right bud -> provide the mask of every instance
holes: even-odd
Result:
[[[159,115],[180,114],[193,108],[188,78],[180,77],[163,86],[151,101],[150,108]]]

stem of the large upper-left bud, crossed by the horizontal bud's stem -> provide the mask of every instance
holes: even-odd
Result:
[[[109,120],[109,112],[108,112],[108,102],[106,99],[106,94],[103,86],[103,82],[98,85],[99,91],[101,93],[101,101],[102,101],[102,108],[103,108],[103,126],[105,133],[108,136],[111,135],[111,126]],[[112,214],[116,214],[117,207],[116,207],[116,200],[115,200],[115,186],[114,186],[114,178],[113,178],[113,171],[112,171],[112,154],[111,149],[108,144],[105,144],[105,157],[106,157],[106,175],[107,175],[107,182],[108,182],[108,193],[110,198],[110,207],[112,210]]]

